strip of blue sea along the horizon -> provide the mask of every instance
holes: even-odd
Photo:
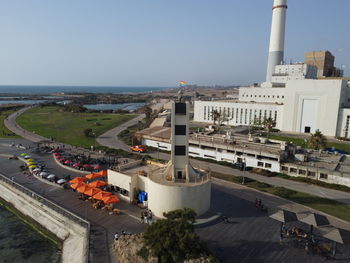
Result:
[[[0,94],[51,94],[51,93],[135,93],[156,92],[173,87],[112,87],[112,86],[16,86],[0,85]]]

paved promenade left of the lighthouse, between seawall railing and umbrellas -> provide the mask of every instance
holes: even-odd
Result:
[[[45,163],[45,171],[53,173],[59,178],[66,175],[72,177],[81,176],[80,173],[66,170],[58,166],[53,160],[52,154],[38,154],[33,151],[35,144],[26,140],[15,140],[16,144],[30,147],[30,149],[19,149],[11,147],[12,140],[0,140],[0,154],[15,154],[19,155],[22,152],[29,153],[35,160],[40,160]],[[15,181],[28,187],[29,189],[45,196],[52,202],[64,207],[72,213],[85,218],[91,223],[91,262],[96,263],[114,263],[112,244],[115,232],[126,230],[131,233],[141,233],[145,229],[145,225],[139,223],[140,210],[137,206],[132,206],[127,202],[121,201],[118,203],[118,208],[122,211],[127,211],[120,216],[109,215],[107,211],[93,209],[90,202],[84,202],[78,199],[78,194],[70,190],[64,190],[57,186],[46,184],[32,176],[24,175],[19,166],[23,163],[17,160],[8,160],[0,157],[1,173],[8,177],[14,177]],[[1,249],[0,249],[1,250]],[[1,262],[1,260],[0,260]]]

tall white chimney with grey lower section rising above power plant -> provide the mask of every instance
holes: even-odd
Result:
[[[287,0],[273,1],[270,48],[266,73],[267,82],[271,81],[275,66],[280,65],[283,61],[287,8]]]

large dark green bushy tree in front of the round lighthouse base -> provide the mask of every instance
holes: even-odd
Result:
[[[142,249],[157,257],[159,263],[183,262],[208,255],[206,244],[194,232],[195,216],[189,208],[164,213],[165,219],[157,220],[146,229]]]

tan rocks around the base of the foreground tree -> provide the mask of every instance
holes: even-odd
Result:
[[[113,244],[113,249],[120,263],[158,263],[157,258],[150,258],[145,261],[137,255],[137,252],[143,247],[143,235],[125,235],[121,236]],[[209,257],[202,257],[198,259],[186,260],[184,263],[215,263],[217,261]]]

